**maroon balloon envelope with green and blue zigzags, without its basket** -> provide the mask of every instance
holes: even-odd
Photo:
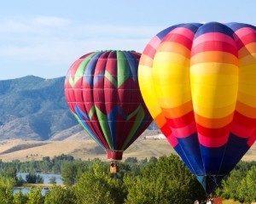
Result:
[[[84,54],[67,73],[70,111],[110,160],[121,160],[152,122],[138,86],[140,56],[114,50]]]

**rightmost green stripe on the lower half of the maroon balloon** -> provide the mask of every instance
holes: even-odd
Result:
[[[136,120],[135,120],[133,126],[131,127],[130,133],[128,134],[127,138],[125,139],[125,143],[122,146],[122,150],[126,149],[125,147],[130,143],[130,141],[133,138],[133,136],[135,135],[137,129],[141,126],[141,124],[143,122],[143,118],[145,116],[145,111],[143,110],[142,105],[139,105],[137,107],[136,111],[134,111],[134,112],[136,112],[136,113],[135,114],[131,113],[131,114],[133,114],[134,116],[137,115]],[[131,118],[131,116],[128,116],[128,118],[129,117]]]

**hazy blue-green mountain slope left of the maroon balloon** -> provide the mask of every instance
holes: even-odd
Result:
[[[0,81],[0,140],[88,138],[67,108],[64,80],[27,76]],[[148,127],[155,129],[154,123]]]

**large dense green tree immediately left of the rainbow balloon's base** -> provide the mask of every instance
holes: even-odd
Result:
[[[205,196],[201,184],[174,155],[149,162],[141,175],[127,175],[124,181],[128,190],[126,204],[190,204]]]

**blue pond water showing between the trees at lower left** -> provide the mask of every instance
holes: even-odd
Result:
[[[17,173],[17,177],[22,177],[24,180],[26,179],[26,175],[28,173]],[[38,173],[41,177],[44,178],[44,184],[49,184],[49,178],[55,177],[56,184],[63,184],[63,180],[61,178],[61,174],[54,174],[54,173]],[[31,188],[28,187],[21,187],[15,188],[14,193],[21,191],[22,194],[28,194]],[[48,188],[42,188],[42,195],[45,195],[49,191]]]

